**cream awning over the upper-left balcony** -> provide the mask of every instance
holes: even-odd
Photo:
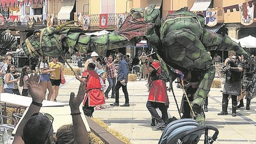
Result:
[[[63,0],[60,11],[58,12],[59,20],[70,20],[70,13],[74,8],[75,0]]]

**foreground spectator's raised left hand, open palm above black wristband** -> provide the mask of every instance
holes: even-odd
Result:
[[[40,75],[31,74],[30,78],[28,79],[28,88],[29,93],[33,99],[34,102],[42,103],[42,101],[45,99],[45,93],[42,90],[42,81],[38,84],[38,81],[40,80]]]

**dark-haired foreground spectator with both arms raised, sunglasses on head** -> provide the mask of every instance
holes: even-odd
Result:
[[[38,84],[39,77],[38,74],[34,76],[31,74],[28,80],[29,92],[33,101],[17,128],[13,144],[52,144],[54,142],[52,128],[54,118],[47,113],[39,113],[42,101],[45,99],[42,82],[40,81]],[[85,95],[85,86],[84,82],[80,83],[77,97],[74,97],[73,92],[70,93],[69,105],[73,121],[74,143],[76,144],[88,144],[88,133],[79,111],[79,105]],[[70,139],[70,137],[65,139]]]

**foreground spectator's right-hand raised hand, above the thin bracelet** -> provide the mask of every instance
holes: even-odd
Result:
[[[73,92],[70,93],[69,105],[70,105],[71,112],[79,111],[79,106],[83,101],[83,98],[85,95],[85,86],[86,86],[85,82],[80,83],[79,90],[76,97]]]

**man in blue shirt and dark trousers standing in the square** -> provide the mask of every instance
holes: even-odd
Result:
[[[122,87],[122,90],[125,94],[125,104],[120,106],[130,106],[129,97],[127,92],[127,81],[128,81],[128,65],[124,59],[124,55],[118,53],[116,55],[117,61],[120,62],[118,66],[118,75],[117,75],[117,83],[115,85],[115,103],[110,104],[111,106],[119,106],[119,89]]]

